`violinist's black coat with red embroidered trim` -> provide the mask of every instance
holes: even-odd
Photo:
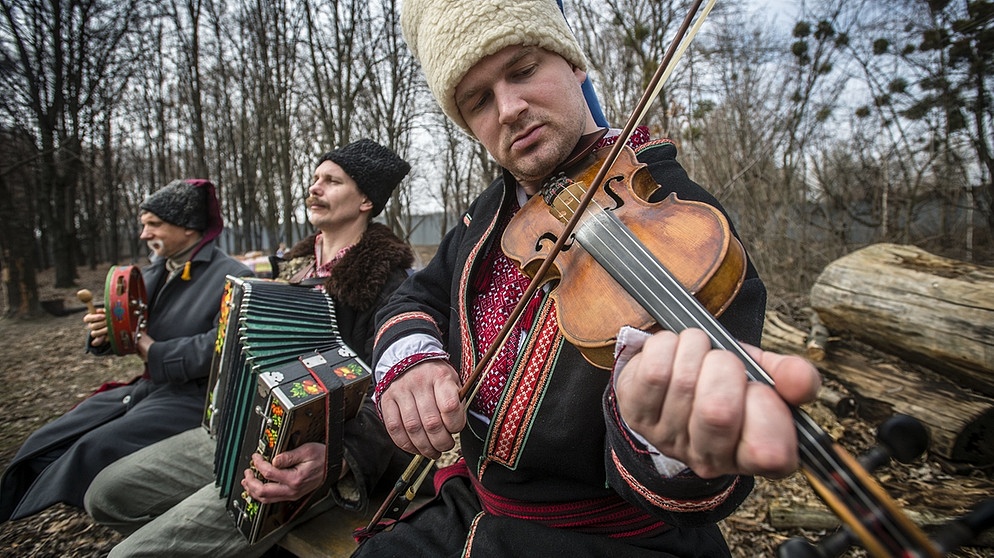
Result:
[[[661,185],[653,201],[675,192],[680,199],[720,209],[717,200],[676,162],[672,143],[646,144],[638,150],[638,158]],[[463,378],[473,369],[486,349],[476,346],[469,317],[476,294],[473,285],[479,274],[488,272],[481,269],[481,262],[500,241],[497,224],[516,203],[514,196],[513,178],[505,173],[472,204],[425,269],[401,286],[378,315],[377,356],[393,342],[419,333],[442,342]],[[749,264],[742,290],[721,322],[738,339],[758,344],[765,300],[765,287]],[[539,323],[548,310],[546,301]],[[645,447],[618,424],[609,371],[584,360],[554,322],[535,328],[526,343],[527,350],[539,355],[532,361],[534,366],[519,363],[511,372],[511,387],[505,389],[489,425],[471,415],[461,433],[472,475],[511,507],[523,503],[565,510],[570,502],[620,496],[624,506],[648,512],[666,526],[622,538],[550,528],[538,521],[481,511],[470,483],[459,477],[443,485],[441,498],[392,530],[373,536],[357,555],[400,556],[396,549],[425,556],[474,557],[727,555],[715,522],[742,502],[752,479],[705,480],[689,471],[662,478]]]

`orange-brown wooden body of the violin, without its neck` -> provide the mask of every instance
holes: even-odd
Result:
[[[525,274],[536,275],[558,238],[555,231],[562,230],[573,216],[585,184],[606,156],[607,150],[600,149],[580,158],[572,174],[562,172],[547,181],[543,194],[533,196],[511,220],[501,248]],[[558,281],[550,296],[559,308],[563,335],[600,368],[614,365],[615,336],[622,325],[651,330],[659,323],[648,310],[661,302],[652,292],[655,276],[648,281],[632,278],[626,286],[618,280],[624,272],[616,266],[631,267],[642,261],[637,252],[666,254],[668,262],[679,262],[670,266],[676,280],[713,316],[728,308],[745,280],[745,250],[724,215],[710,204],[680,200],[675,194],[649,203],[658,189],[646,165],[631,148],[624,147],[592,198],[595,209],[576,229],[582,249],[567,244],[544,278]],[[626,261],[605,261],[619,247],[629,254],[623,256]],[[591,256],[596,263],[590,261]]]

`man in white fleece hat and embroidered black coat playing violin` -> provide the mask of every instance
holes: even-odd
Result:
[[[372,534],[356,556],[728,555],[716,522],[748,495],[752,475],[797,467],[788,402],[814,397],[816,370],[748,349],[774,390],[748,382],[741,360],[713,350],[701,330],[632,328],[618,335],[613,369],[597,368],[564,338],[544,288],[461,402],[528,284],[502,234],[598,126],[581,91],[586,62],[553,0],[405,0],[401,24],[442,110],[504,172],[378,315],[387,431],[429,458],[459,433],[462,459],[436,474],[435,500]],[[651,201],[676,193],[720,209],[672,142],[642,129],[628,145],[661,186]],[[748,264],[720,322],[758,345],[765,298]]]

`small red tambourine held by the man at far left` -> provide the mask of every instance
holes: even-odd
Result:
[[[107,335],[115,354],[136,352],[135,334],[148,312],[146,299],[145,281],[138,266],[116,265],[110,268],[104,287],[104,304]]]

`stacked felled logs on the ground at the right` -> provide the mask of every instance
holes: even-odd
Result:
[[[994,269],[872,245],[825,268],[808,321],[804,331],[771,313],[764,346],[806,355],[845,386],[820,396],[839,416],[910,415],[951,468],[994,466]]]

